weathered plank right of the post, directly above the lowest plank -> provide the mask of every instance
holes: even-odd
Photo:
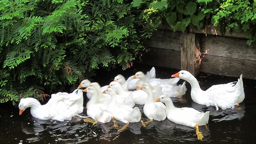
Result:
[[[203,36],[201,50],[209,49],[209,55],[256,60],[256,43],[249,47],[246,41],[227,37]]]

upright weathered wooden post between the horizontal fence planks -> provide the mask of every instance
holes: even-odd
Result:
[[[195,33],[181,35],[181,69],[191,72],[194,76],[199,73],[201,62],[198,37]]]

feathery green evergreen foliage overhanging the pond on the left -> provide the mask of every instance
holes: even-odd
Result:
[[[126,0],[0,0],[0,102],[127,68],[154,30],[140,16]]]

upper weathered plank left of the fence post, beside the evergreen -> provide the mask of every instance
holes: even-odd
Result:
[[[180,36],[180,32],[158,30],[149,40],[144,42],[144,45],[159,49],[180,50]]]

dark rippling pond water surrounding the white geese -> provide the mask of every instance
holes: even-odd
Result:
[[[134,64],[125,71],[98,72],[94,81],[106,85],[114,76],[123,74],[128,77],[137,71],[146,72],[152,66]],[[170,78],[177,69],[155,67],[157,78]],[[206,90],[211,85],[237,81],[236,77],[217,76],[201,73],[197,76],[201,88]],[[180,81],[183,82],[183,81]],[[168,119],[153,121],[143,127],[141,123],[130,123],[127,130],[118,132],[113,123],[95,126],[85,123],[79,117],[72,121],[41,121],[30,115],[29,109],[18,115],[18,108],[10,103],[0,104],[0,144],[255,144],[256,139],[256,81],[243,79],[245,99],[241,106],[234,109],[216,111],[192,102],[190,85],[182,99],[173,99],[176,107],[192,107],[199,111],[210,110],[208,129],[200,126],[205,136],[197,140],[195,129],[175,124]],[[84,95],[85,96],[85,95]],[[87,102],[86,96],[85,104]],[[142,110],[143,106],[138,105]],[[86,115],[86,109],[82,113]],[[146,120],[146,116],[142,115]],[[118,122],[119,126],[124,124]]]

